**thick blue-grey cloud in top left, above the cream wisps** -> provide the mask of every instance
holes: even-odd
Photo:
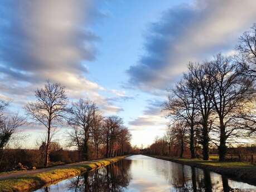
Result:
[[[89,1],[10,1],[2,8],[7,11],[1,24],[1,60],[9,75],[40,80],[56,72],[87,72],[81,61],[95,58],[91,42],[98,40],[84,27]]]

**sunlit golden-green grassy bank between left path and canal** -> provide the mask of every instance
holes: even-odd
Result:
[[[15,178],[0,180],[0,191],[31,191],[39,189],[42,186],[56,183],[57,181],[71,178],[86,171],[90,171],[100,166],[109,165],[123,159],[125,156],[113,157],[104,160],[91,161],[88,164],[74,165],[70,168],[58,168],[45,171],[38,174],[28,174]]]

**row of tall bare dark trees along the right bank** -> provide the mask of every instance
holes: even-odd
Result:
[[[183,78],[169,90],[163,111],[170,118],[166,135],[149,148],[168,155],[209,160],[210,146],[225,161],[228,146],[255,135],[256,25],[244,32],[236,54],[189,63]],[[235,145],[233,145],[235,146]],[[186,151],[189,149],[189,151]],[[177,151],[178,150],[178,151]]]

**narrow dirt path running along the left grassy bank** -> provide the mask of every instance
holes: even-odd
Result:
[[[90,164],[90,163],[93,163],[93,162],[94,161],[81,161],[81,162],[71,163],[71,164],[51,166],[50,168],[27,170],[27,171],[17,171],[15,173],[0,174],[0,180],[9,179],[9,178],[16,178],[16,177],[20,177],[20,176],[26,176],[26,175],[29,175],[29,174],[42,173],[42,172],[50,171],[50,170],[54,170],[54,169],[66,169],[66,168],[70,168],[74,165],[85,165],[85,164]]]

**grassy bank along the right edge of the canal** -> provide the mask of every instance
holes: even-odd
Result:
[[[219,161],[204,161],[200,159],[177,159],[166,156],[150,155],[157,159],[173,161],[175,163],[190,165],[195,168],[207,169],[219,174],[229,176],[236,180],[245,181],[246,183],[256,185],[256,166],[242,162],[219,162]]]

